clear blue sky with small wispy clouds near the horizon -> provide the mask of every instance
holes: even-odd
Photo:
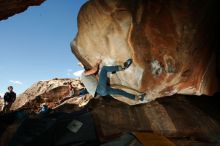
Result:
[[[81,70],[70,49],[77,14],[87,0],[47,0],[0,21],[0,94],[17,94],[39,80],[74,78]]]

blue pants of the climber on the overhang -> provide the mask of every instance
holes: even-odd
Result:
[[[135,100],[135,95],[127,93],[120,89],[114,89],[107,85],[107,73],[108,72],[117,72],[119,71],[119,66],[103,66],[99,75],[98,87],[96,89],[96,93],[101,96],[106,95],[122,95],[127,98]]]

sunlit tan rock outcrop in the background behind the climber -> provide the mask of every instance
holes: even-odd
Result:
[[[52,79],[39,81],[19,95],[12,105],[12,110],[25,109],[26,111],[39,111],[42,103],[46,103],[50,108],[59,106],[66,96],[69,95],[68,83],[71,83],[75,91],[82,89],[80,80],[77,79]],[[81,98],[77,98],[80,100]],[[75,100],[74,100],[75,101]],[[71,103],[73,103],[72,101]],[[76,104],[81,104],[75,101]]]

